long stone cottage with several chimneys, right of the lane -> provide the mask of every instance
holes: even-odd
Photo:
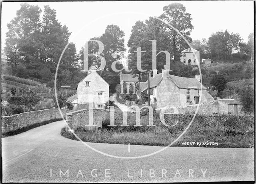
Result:
[[[150,103],[156,103],[157,108],[166,106],[186,106],[200,103],[207,103],[214,98],[206,91],[197,76],[196,78],[178,77],[169,74],[170,70],[162,69],[162,73],[157,74],[153,70],[153,77],[150,77]],[[201,89],[202,87],[202,89]],[[138,91],[140,90],[140,91]],[[140,83],[140,88],[136,91],[140,98],[142,93],[148,94],[148,81]]]

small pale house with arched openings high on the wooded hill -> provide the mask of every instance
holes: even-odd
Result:
[[[181,51],[180,61],[186,65],[197,65],[200,62],[200,52],[196,49],[185,49]]]

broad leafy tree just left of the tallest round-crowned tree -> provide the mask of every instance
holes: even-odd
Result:
[[[137,21],[132,27],[132,34],[128,41],[129,47],[129,67],[132,69],[132,74],[140,74],[144,76],[142,70],[152,70],[153,60],[153,41],[156,40],[156,54],[160,51],[170,52],[170,41],[168,33],[162,27],[162,22],[153,17],[150,17],[144,22]],[[137,68],[137,47],[141,47],[141,71]],[[170,53],[170,57],[172,57]],[[159,53],[156,57],[156,69],[159,71],[166,65],[166,54]],[[141,75],[142,74],[142,75]]]

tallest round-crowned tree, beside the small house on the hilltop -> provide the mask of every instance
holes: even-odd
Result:
[[[164,14],[160,16],[163,20],[166,20],[168,24],[176,28],[187,40],[192,42],[190,38],[190,33],[194,27],[191,24],[192,18],[190,18],[189,13],[186,12],[186,7],[181,3],[172,3],[163,8]],[[188,47],[182,36],[176,32],[170,26],[163,24],[163,26],[168,30],[172,44],[172,53],[174,54],[174,61],[180,61],[180,51]]]

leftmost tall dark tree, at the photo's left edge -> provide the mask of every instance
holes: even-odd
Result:
[[[30,62],[38,61],[40,13],[39,6],[23,3],[20,5],[16,17],[7,24],[8,32],[6,33],[4,55],[8,64],[12,65],[14,74],[18,71],[18,65],[26,67]]]

